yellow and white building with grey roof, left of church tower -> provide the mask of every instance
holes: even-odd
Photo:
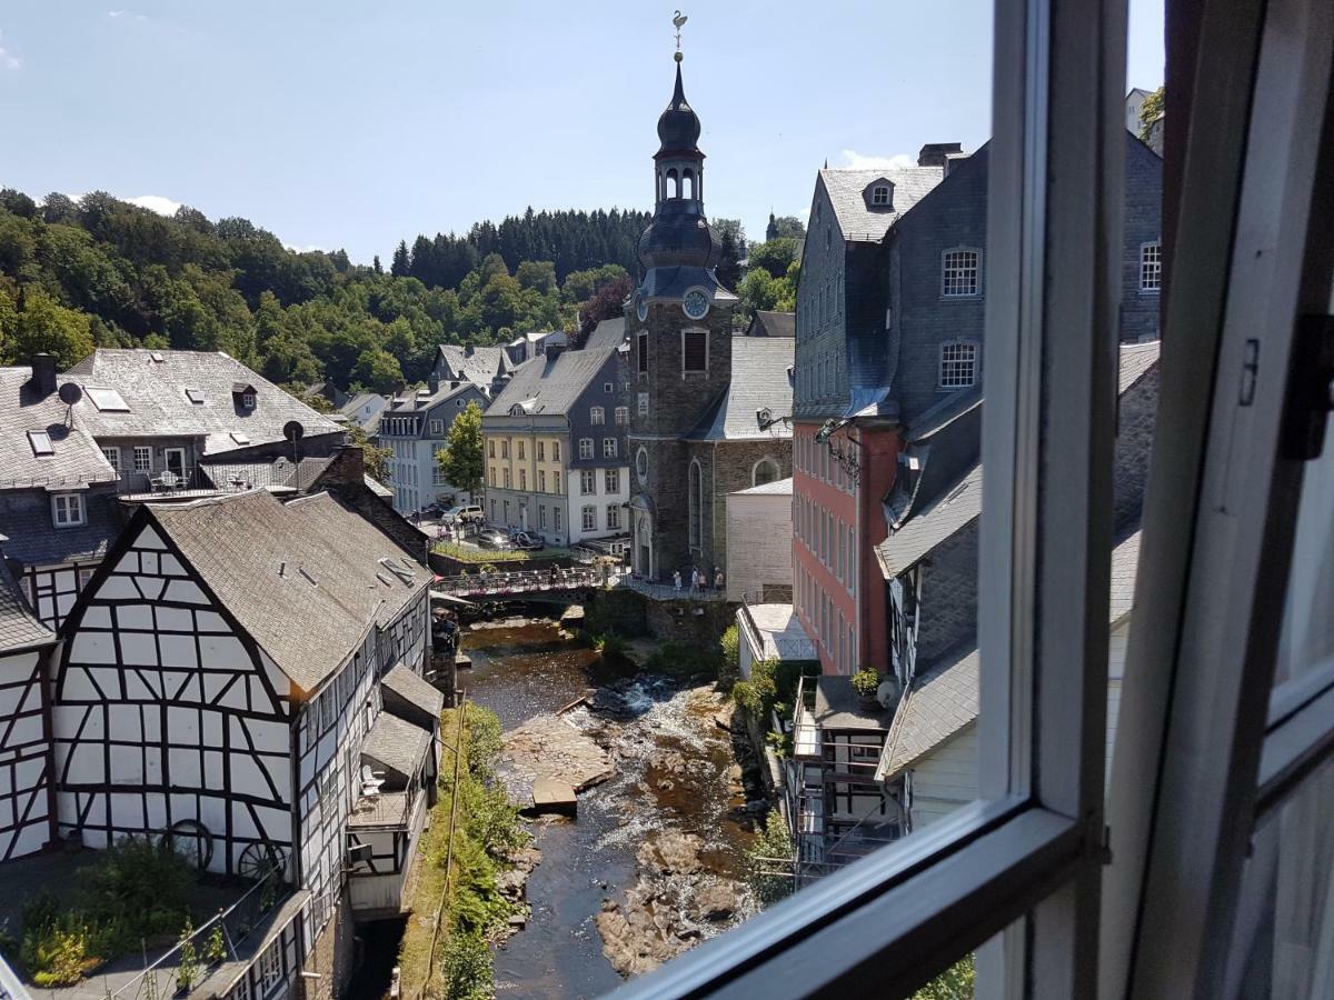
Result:
[[[628,529],[623,352],[551,347],[515,369],[482,417],[487,520],[552,545]]]

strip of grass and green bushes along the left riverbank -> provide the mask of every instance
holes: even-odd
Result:
[[[431,828],[422,840],[422,872],[412,900],[412,917],[399,947],[403,995],[447,1000],[480,1000],[494,992],[487,941],[514,912],[496,888],[508,856],[526,847],[528,833],[519,823],[519,808],[496,781],[500,756],[500,720],[496,713],[468,703],[463,709],[459,740],[459,781],[455,785],[455,751],[459,709],[447,709],[440,721],[446,748],[440,755],[440,796],[432,807]],[[454,853],[448,879],[450,816],[458,799]],[[448,884],[446,884],[448,883]],[[442,927],[431,961],[436,909]]]

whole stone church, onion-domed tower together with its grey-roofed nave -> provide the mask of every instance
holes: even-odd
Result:
[[[791,336],[734,331],[736,296],[714,273],[699,117],[676,85],[658,119],[654,217],[626,304],[634,571],[668,580],[727,561],[728,493],[792,468]]]

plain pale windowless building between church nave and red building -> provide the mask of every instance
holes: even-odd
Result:
[[[727,495],[727,600],[792,600],[792,477]]]

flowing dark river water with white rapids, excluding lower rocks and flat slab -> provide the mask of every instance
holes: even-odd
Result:
[[[500,997],[588,997],[620,984],[603,955],[594,917],[604,900],[624,901],[639,877],[635,852],[654,831],[696,833],[704,865],[696,881],[740,879],[751,833],[732,792],[731,737],[712,721],[714,705],[667,677],[636,672],[560,636],[554,623],[482,628],[463,641],[474,669],[459,675],[468,697],[514,729],[580,696],[563,717],[600,743],[616,764],[608,781],[579,795],[578,820],[531,825],[542,863],[528,881],[527,927],[495,953]],[[662,763],[672,763],[671,773]],[[732,771],[732,773],[735,773]],[[692,885],[686,891],[692,891]],[[728,923],[752,909],[743,907]],[[692,927],[699,936],[728,924]]]

